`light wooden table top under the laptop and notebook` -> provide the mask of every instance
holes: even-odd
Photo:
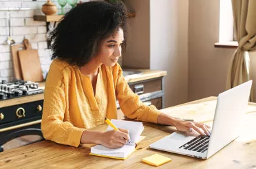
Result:
[[[211,125],[215,105],[216,97],[210,97],[162,109],[162,112]],[[195,159],[149,148],[149,144],[173,133],[175,128],[144,122],[142,135],[146,136],[145,139],[138,144],[138,150],[124,161],[89,155],[94,144],[74,148],[43,141],[0,153],[0,168],[155,168],[142,162],[143,157],[155,153],[172,159],[158,168],[256,168],[256,104],[249,103],[246,112],[245,122],[239,124],[244,132],[210,159]],[[103,125],[92,130],[105,131],[106,128]]]

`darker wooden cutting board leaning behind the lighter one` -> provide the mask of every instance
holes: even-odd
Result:
[[[31,49],[31,45],[29,44],[29,49]],[[11,45],[11,52],[12,52],[12,65],[14,70],[14,78],[17,80],[22,80],[23,76],[21,73],[21,65],[19,63],[19,54],[18,51],[21,49],[25,49],[24,44],[19,45]]]

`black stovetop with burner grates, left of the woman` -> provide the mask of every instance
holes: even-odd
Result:
[[[26,95],[34,95],[43,93],[43,89],[39,88],[38,82],[16,80],[14,82],[0,82],[0,100],[7,100],[10,98],[19,98]]]

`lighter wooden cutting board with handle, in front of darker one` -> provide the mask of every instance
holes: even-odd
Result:
[[[24,39],[23,43],[26,49],[19,51],[19,61],[21,64],[23,80],[41,82],[43,81],[43,72],[39,60],[39,53],[37,49],[32,49],[30,47],[28,39]]]

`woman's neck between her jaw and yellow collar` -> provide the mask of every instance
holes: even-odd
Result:
[[[98,60],[92,58],[86,65],[80,67],[80,71],[85,76],[95,76],[98,74],[98,68],[102,65],[102,63],[98,62]]]

